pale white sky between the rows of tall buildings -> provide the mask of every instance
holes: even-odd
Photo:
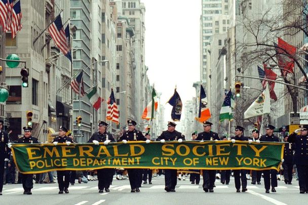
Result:
[[[145,65],[150,84],[162,93],[165,120],[172,106],[165,104],[176,86],[183,105],[196,96],[200,81],[200,0],[141,0],[145,6]],[[184,121],[184,109],[177,128]],[[166,125],[167,128],[167,125]],[[178,130],[178,129],[177,129]]]

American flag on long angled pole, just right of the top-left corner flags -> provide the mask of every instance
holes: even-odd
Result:
[[[54,42],[57,45],[57,47],[60,49],[60,51],[64,55],[67,55],[70,49],[67,45],[66,35],[65,35],[65,31],[63,28],[60,14],[57,16],[54,22],[49,26],[48,31],[52,39],[54,39]]]

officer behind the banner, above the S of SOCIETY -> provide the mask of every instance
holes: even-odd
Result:
[[[166,141],[178,141],[181,143],[185,138],[182,134],[175,130],[176,124],[172,121],[168,121],[168,129],[163,131],[162,134],[156,139],[165,143]],[[165,169],[165,190],[167,192],[175,192],[175,186],[177,184],[177,170]]]

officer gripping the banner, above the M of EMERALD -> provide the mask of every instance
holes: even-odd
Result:
[[[55,146],[57,146],[58,143],[70,145],[72,143],[72,139],[66,136],[66,132],[67,129],[64,126],[60,126],[59,136],[55,137],[52,143]],[[63,176],[64,176],[64,182],[63,182]],[[68,170],[57,171],[57,180],[59,184],[59,194],[63,194],[63,190],[65,193],[69,193],[68,186],[70,181],[70,171]]]

